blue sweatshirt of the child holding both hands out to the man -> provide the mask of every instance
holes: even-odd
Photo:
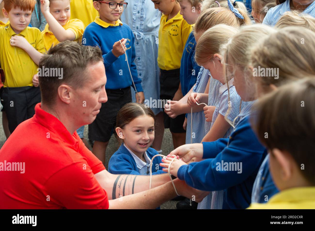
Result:
[[[177,175],[199,190],[224,190],[223,209],[245,209],[251,202],[253,184],[266,155],[265,147],[257,139],[250,127],[249,116],[246,116],[229,138],[203,142],[205,160],[181,166]],[[224,171],[222,161],[223,166],[225,162],[238,162],[239,166],[242,163],[241,171],[231,171],[232,168]]]

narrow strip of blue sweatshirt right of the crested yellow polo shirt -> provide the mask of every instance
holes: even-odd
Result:
[[[200,66],[195,62],[196,39],[193,32],[190,33],[180,60],[180,86],[185,96],[197,81]]]

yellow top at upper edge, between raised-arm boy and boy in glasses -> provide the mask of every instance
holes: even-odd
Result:
[[[70,19],[80,19],[87,27],[97,16],[98,11],[93,6],[93,0],[71,0]]]

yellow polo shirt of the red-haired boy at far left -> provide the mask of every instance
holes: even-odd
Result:
[[[38,66],[20,47],[10,45],[11,36],[16,35],[11,25],[0,27],[0,63],[4,70],[5,87],[33,86],[32,78]],[[18,36],[23,36],[38,52],[45,53],[43,35],[35,27],[26,27]]]

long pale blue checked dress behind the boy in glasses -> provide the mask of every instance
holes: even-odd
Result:
[[[154,8],[151,0],[125,0],[127,8],[123,10],[121,21],[130,26],[135,35],[135,64],[138,78],[145,96],[145,103],[156,102],[160,105],[160,69],[157,66],[158,30],[161,12]],[[132,101],[135,102],[135,90],[131,88]],[[156,100],[156,101],[155,101]],[[148,106],[150,106],[147,103]],[[154,114],[162,112],[163,108],[151,108]]]

